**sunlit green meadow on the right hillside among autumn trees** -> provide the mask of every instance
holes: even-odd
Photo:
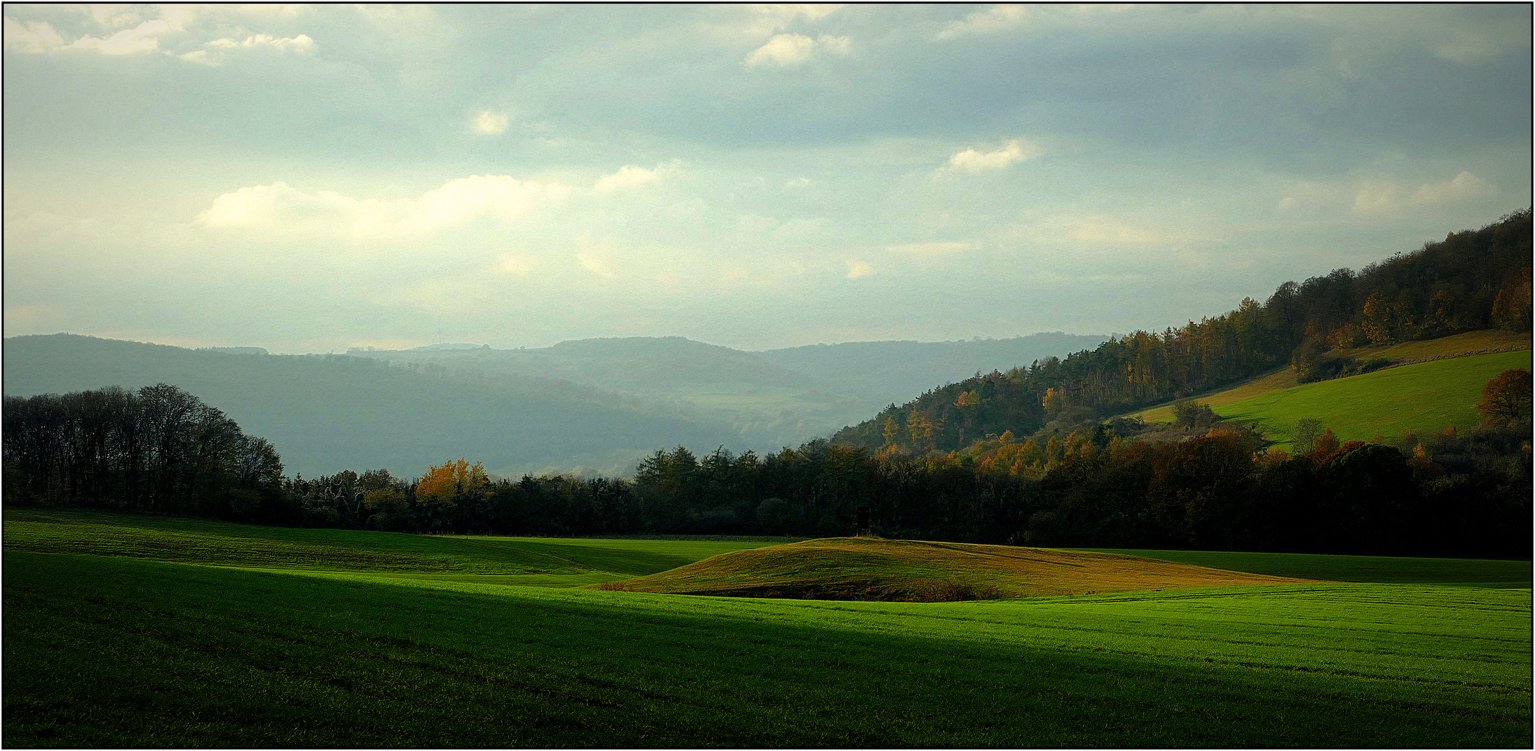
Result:
[[[1226,420],[1262,421],[1280,448],[1289,446],[1289,434],[1303,417],[1322,420],[1345,441],[1409,431],[1428,435],[1452,425],[1466,429],[1480,423],[1475,405],[1481,402],[1481,388],[1510,368],[1529,369],[1530,351],[1441,359],[1274,388],[1292,377],[1282,371],[1199,402],[1210,403]],[[1141,417],[1171,418],[1171,408],[1148,409]]]

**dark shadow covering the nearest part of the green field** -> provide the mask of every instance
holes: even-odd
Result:
[[[6,553],[6,566],[11,746],[1500,746],[1529,736],[1527,687],[1475,693],[817,624],[835,616],[829,602],[473,592],[41,553]]]

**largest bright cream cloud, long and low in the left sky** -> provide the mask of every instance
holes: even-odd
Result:
[[[244,187],[213,199],[193,224],[209,230],[269,230],[278,234],[342,234],[352,239],[433,233],[494,216],[516,222],[563,199],[560,182],[471,175],[450,179],[418,199],[356,199],[330,190],[305,193],[287,182]]]

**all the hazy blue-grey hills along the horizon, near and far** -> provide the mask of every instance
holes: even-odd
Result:
[[[293,356],[51,334],[5,340],[5,392],[173,383],[273,441],[289,474],[388,467],[414,475],[428,463],[476,457],[497,474],[626,475],[660,448],[763,452],[829,435],[890,398],[932,388],[926,379],[938,357],[912,353],[1035,339],[795,348],[812,351],[798,359],[806,372],[772,362],[794,360],[792,351],[748,353],[683,337]],[[840,365],[840,353],[860,359]],[[1007,366],[952,360],[938,382]],[[847,376],[855,368],[867,368],[884,391],[860,388]],[[890,397],[901,379],[923,385]]]

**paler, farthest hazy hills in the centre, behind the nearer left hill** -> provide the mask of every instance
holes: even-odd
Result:
[[[748,353],[683,337],[579,339],[543,348],[430,345],[353,349],[396,365],[554,377],[654,400],[725,426],[726,446],[774,451],[830,435],[890,402],[976,371],[1007,369],[1096,346],[1102,336],[1033,334],[969,342],[855,342]],[[660,448],[660,446],[659,446]]]

